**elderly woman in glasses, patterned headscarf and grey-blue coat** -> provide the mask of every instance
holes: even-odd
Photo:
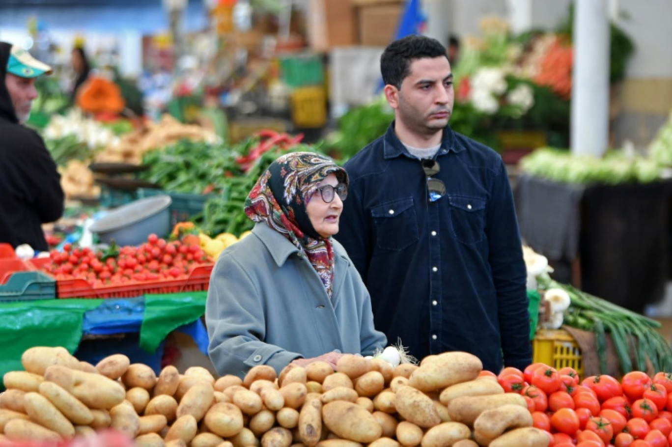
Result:
[[[210,278],[206,325],[219,374],[294,362],[335,365],[341,353],[384,348],[369,294],[338,233],[347,173],[314,153],[282,155],[245,201],[256,225]]]

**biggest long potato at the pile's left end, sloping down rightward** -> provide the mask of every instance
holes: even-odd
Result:
[[[44,380],[54,382],[91,409],[110,409],[126,399],[126,391],[114,380],[100,374],[52,365]]]

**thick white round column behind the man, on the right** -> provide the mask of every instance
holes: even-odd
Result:
[[[601,157],[609,144],[607,0],[575,0],[571,148]]]

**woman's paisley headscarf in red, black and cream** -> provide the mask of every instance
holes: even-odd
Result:
[[[331,298],[333,248],[320,236],[306,213],[306,202],[329,174],[347,184],[347,173],[329,157],[310,152],[294,152],[278,157],[259,177],[245,200],[245,214],[289,239],[305,253]]]

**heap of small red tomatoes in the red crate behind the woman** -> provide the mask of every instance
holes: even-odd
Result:
[[[211,263],[198,243],[166,241],[149,235],[139,246],[93,251],[66,244],[63,251],[51,251],[43,270],[56,280],[81,278],[93,287],[138,282],[185,279],[194,268]]]

